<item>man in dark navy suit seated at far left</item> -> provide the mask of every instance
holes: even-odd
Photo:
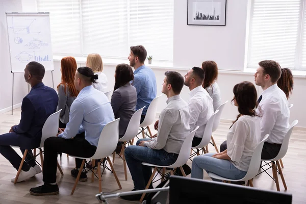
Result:
[[[56,112],[58,95],[56,91],[42,83],[44,66],[38,62],[30,62],[24,69],[25,82],[32,87],[30,93],[22,100],[21,119],[13,125],[9,133],[0,135],[0,153],[18,170],[21,157],[10,146],[18,146],[22,154],[25,149],[37,148],[40,145],[41,131],[47,118]],[[28,151],[28,161],[23,164],[17,182],[29,179],[41,172],[35,160],[31,160],[32,151]],[[15,177],[12,178],[14,182]]]

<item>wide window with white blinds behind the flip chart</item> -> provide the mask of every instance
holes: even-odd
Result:
[[[126,58],[143,45],[156,60],[173,60],[174,0],[37,0],[50,12],[56,55]]]

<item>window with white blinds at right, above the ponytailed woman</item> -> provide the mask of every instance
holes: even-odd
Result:
[[[252,0],[247,67],[262,60],[306,70],[306,0]]]

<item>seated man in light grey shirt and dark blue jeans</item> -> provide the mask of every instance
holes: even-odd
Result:
[[[176,71],[167,71],[165,75],[162,92],[168,97],[168,105],[156,122],[158,125],[157,137],[140,139],[136,145],[126,147],[124,151],[125,160],[134,182],[134,190],[145,189],[152,174],[151,167],[141,163],[147,162],[162,166],[173,164],[190,132],[188,104],[180,96],[184,78]],[[140,200],[141,194],[121,196],[121,198]]]

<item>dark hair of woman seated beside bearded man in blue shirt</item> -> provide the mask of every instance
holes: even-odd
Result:
[[[128,64],[118,64],[116,66],[116,79],[115,79],[115,86],[114,91],[119,87],[129,83],[130,81],[134,80],[134,73],[133,69]]]

